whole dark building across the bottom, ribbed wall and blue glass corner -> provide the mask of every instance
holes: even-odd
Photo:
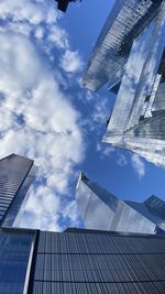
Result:
[[[165,237],[2,229],[1,294],[164,293]]]

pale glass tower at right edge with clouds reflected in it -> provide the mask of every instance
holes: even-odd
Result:
[[[133,42],[103,141],[165,165],[165,2]]]

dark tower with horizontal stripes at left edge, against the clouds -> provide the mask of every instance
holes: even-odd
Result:
[[[0,226],[18,226],[35,172],[33,160],[15,154],[0,160]]]

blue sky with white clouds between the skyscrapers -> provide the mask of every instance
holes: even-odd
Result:
[[[113,1],[82,0],[66,13],[54,0],[0,1],[0,157],[34,159],[35,184],[21,227],[82,227],[79,172],[123,199],[165,199],[165,171],[102,143],[116,96],[81,84]]]

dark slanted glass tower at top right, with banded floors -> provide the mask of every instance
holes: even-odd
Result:
[[[134,39],[155,18],[162,0],[118,0],[90,56],[84,84],[98,90],[121,79]]]

